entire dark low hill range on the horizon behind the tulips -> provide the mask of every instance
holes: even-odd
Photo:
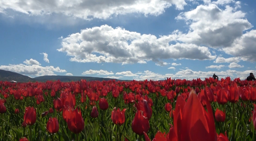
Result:
[[[131,80],[118,80],[118,79],[111,79],[111,78],[99,78],[99,77],[83,77],[83,76],[39,76],[35,78],[30,78],[25,75],[21,75],[18,73],[4,71],[0,69],[0,81],[17,81],[17,82],[46,82],[47,80],[61,80],[62,82],[71,82],[71,81],[80,81],[81,79],[85,79],[86,81],[93,81],[93,80],[116,80],[116,81],[131,81]]]

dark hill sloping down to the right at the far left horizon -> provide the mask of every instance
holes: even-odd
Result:
[[[0,81],[33,82],[34,79],[18,73],[0,69]]]

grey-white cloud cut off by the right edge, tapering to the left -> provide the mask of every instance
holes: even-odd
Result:
[[[256,61],[256,30],[251,30],[237,38],[234,43],[222,49],[235,57],[243,57],[246,61]]]

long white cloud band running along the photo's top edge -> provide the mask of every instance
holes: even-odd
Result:
[[[106,19],[111,18],[112,15],[127,13],[157,16],[165,12],[165,9],[172,4],[179,10],[187,5],[185,0],[1,0],[0,13],[7,13],[6,9],[12,9],[32,16],[64,14],[82,19]]]

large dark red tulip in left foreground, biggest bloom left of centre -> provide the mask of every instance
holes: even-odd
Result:
[[[64,112],[64,110],[63,110]],[[78,134],[84,129],[84,120],[81,114],[81,110],[76,108],[75,110],[68,109],[67,123],[71,132]]]

